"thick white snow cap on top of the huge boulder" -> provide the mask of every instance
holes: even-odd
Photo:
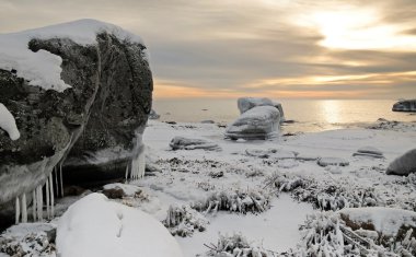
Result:
[[[19,33],[0,34],[0,69],[14,69],[18,71],[18,77],[30,81],[31,85],[62,92],[70,87],[60,78],[62,59],[46,50],[33,52],[27,47],[28,42],[32,38],[70,38],[80,45],[91,45],[96,43],[95,37],[100,32],[108,32],[120,39],[143,45],[139,36],[119,26],[95,20],[79,20]],[[145,57],[149,59],[148,51],[145,52]]]

